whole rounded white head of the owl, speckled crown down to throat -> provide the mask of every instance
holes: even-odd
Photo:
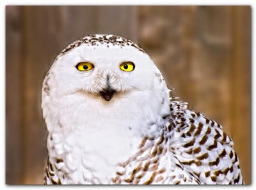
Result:
[[[132,41],[105,34],[85,36],[68,45],[42,87],[49,131],[62,129],[56,128],[60,123],[67,129],[83,128],[84,123],[94,129],[104,119],[109,128],[134,125],[142,130],[142,124],[131,118],[149,123],[161,120],[170,113],[169,101],[163,77],[144,50]],[[109,118],[115,118],[112,124]]]

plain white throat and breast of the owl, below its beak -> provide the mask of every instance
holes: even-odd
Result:
[[[48,138],[50,157],[63,157],[68,168],[75,171],[73,177],[81,177],[77,172],[82,172],[90,179],[93,172],[102,181],[108,180],[118,163],[136,153],[143,136],[157,136],[157,128],[163,124],[161,99],[150,102],[136,98],[136,94],[127,96],[134,101],[124,96],[106,102],[84,94],[55,99],[60,106],[51,115],[57,117],[46,119],[52,129]]]

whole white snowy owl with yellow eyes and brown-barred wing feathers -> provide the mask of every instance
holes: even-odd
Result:
[[[68,45],[42,87],[45,184],[243,184],[230,137],[171,90],[130,40]]]

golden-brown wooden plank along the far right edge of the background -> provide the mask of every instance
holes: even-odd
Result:
[[[251,8],[232,7],[232,136],[244,182],[251,183]]]

